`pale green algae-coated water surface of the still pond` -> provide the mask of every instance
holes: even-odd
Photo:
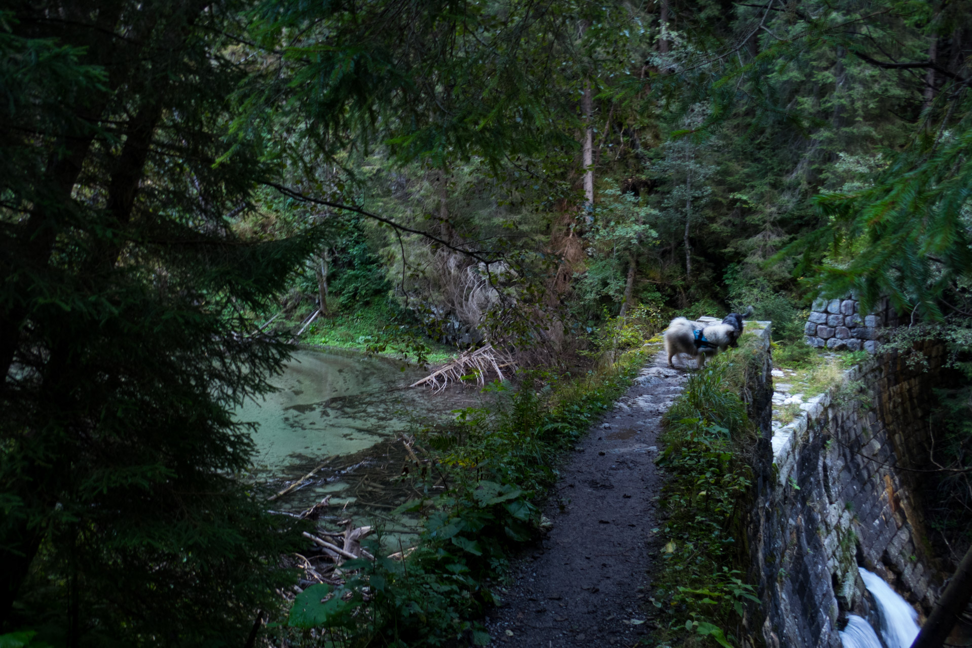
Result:
[[[379,452],[378,444],[412,427],[450,421],[453,409],[468,406],[476,397],[471,390],[433,394],[407,388],[425,373],[414,365],[355,351],[296,352],[283,374],[271,379],[278,392],[236,411],[238,420],[258,424],[253,435],[256,474],[271,483],[293,480],[322,460],[339,456],[281,503],[284,508],[306,507],[328,493],[335,501],[343,499],[364,478],[370,460],[387,456],[388,450]],[[368,457],[371,448],[375,458]],[[364,464],[348,470],[348,460]]]

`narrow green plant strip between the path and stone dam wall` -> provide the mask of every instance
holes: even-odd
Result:
[[[746,584],[742,518],[752,471],[746,458],[755,429],[740,393],[765,352],[746,334],[740,348],[689,378],[664,419],[658,464],[668,519],[651,602],[660,646],[734,646],[744,607],[758,603]]]

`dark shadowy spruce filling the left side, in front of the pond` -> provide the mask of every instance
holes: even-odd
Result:
[[[0,631],[243,645],[287,579],[233,473],[289,347],[247,332],[323,236],[237,235],[271,168],[227,154],[226,2],[0,15]],[[219,162],[217,162],[219,160]]]

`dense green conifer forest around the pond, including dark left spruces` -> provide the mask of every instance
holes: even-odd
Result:
[[[556,369],[848,290],[972,339],[965,0],[15,1],[0,50],[4,631],[243,644],[293,535],[227,412],[318,310]]]

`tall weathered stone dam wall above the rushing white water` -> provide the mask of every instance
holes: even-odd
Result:
[[[745,525],[763,605],[747,614],[750,645],[838,648],[841,618],[869,614],[858,564],[930,609],[941,575],[922,539],[914,473],[894,468],[928,456],[922,422],[944,350],[925,353],[927,373],[895,354],[854,367],[760,439]]]

